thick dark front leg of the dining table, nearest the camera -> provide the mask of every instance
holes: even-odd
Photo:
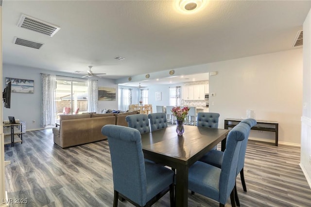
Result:
[[[176,168],[175,206],[188,207],[188,170],[187,165]]]

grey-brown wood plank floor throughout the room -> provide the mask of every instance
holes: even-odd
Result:
[[[113,181],[106,140],[61,149],[53,143],[52,129],[23,134],[23,144],[5,145],[6,190],[11,207],[111,207]],[[249,141],[241,207],[311,207],[311,190],[300,167],[300,148]],[[15,199],[27,198],[27,204]],[[218,207],[218,202],[189,191],[189,207]],[[18,201],[18,200],[17,200]],[[169,207],[169,194],[154,207]],[[228,199],[226,206],[230,205]],[[132,207],[119,202],[119,207]]]

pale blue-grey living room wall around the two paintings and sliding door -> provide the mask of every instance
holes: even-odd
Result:
[[[8,116],[14,116],[16,119],[26,121],[27,130],[41,129],[41,100],[42,100],[42,88],[41,88],[41,74],[56,74],[70,77],[81,77],[71,73],[62,73],[49,71],[44,69],[36,69],[29,67],[22,67],[16,65],[3,64],[2,72],[2,87],[5,86],[5,77],[20,78],[34,80],[34,94],[28,93],[11,93],[11,108],[3,108],[3,119],[7,120]],[[96,79],[96,78],[94,78]],[[114,84],[114,80],[97,78],[98,86],[115,87],[118,97],[118,85]],[[100,101],[98,108],[118,108],[118,98],[116,101]],[[35,123],[33,123],[35,120]]]

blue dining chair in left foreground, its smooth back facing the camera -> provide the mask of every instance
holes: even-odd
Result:
[[[151,206],[170,191],[173,206],[174,172],[144,161],[141,135],[137,129],[107,124],[102,134],[108,137],[113,173],[113,207],[118,206],[119,195],[135,206]]]

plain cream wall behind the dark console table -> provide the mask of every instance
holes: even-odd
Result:
[[[290,50],[207,64],[209,111],[225,118],[245,118],[255,111],[257,120],[279,122],[279,143],[300,144],[302,111],[302,50]],[[214,102],[214,105],[212,104]],[[274,142],[273,132],[252,131],[250,139]]]

